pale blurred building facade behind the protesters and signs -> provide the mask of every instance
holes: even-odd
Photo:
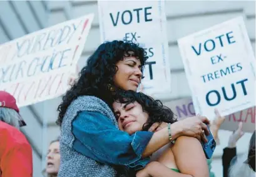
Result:
[[[165,8],[172,93],[164,96],[168,99],[160,98],[163,101],[191,96],[178,51],[178,38],[243,16],[248,36],[255,49],[255,1],[166,1]],[[95,19],[79,59],[79,66],[84,66],[88,56],[100,44],[97,1],[0,1],[0,44],[89,13],[94,13]],[[28,124],[22,131],[33,146],[34,177],[43,176],[46,149],[49,142],[59,135],[55,121],[60,102],[61,98],[56,98],[21,108],[21,115]],[[216,176],[222,176],[222,149],[227,146],[230,134],[229,131],[220,131],[220,146],[215,151],[212,163],[212,171]],[[249,139],[249,133],[240,139],[239,154],[247,151]]]

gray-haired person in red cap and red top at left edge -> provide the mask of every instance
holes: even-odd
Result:
[[[16,99],[0,91],[0,176],[32,177],[32,148],[19,128],[26,123],[19,114]]]

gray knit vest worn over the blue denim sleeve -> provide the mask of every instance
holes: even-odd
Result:
[[[79,111],[96,111],[113,121],[116,128],[118,124],[110,107],[101,99],[95,96],[79,96],[74,100],[63,118],[61,125],[60,153],[61,164],[59,177],[113,177],[116,171],[108,164],[98,163],[97,161],[83,156],[73,149],[74,136],[72,134],[72,122]]]

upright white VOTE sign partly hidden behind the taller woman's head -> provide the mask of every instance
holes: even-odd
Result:
[[[148,61],[142,80],[146,94],[170,93],[170,64],[164,1],[98,1],[101,41],[133,41]]]

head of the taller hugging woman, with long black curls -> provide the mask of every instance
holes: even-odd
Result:
[[[56,123],[61,125],[69,104],[78,96],[96,96],[111,107],[117,89],[136,91],[146,59],[145,50],[138,44],[124,41],[101,44],[81,69],[78,81],[63,97]]]

